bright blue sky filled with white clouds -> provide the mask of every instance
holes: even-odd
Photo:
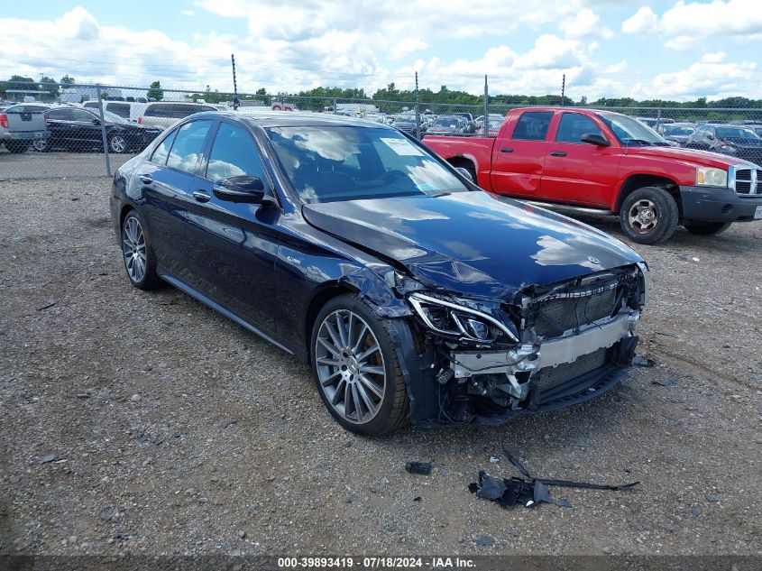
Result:
[[[0,78],[293,93],[762,98],[762,0],[35,0],[0,11]],[[32,15],[33,14],[33,15]]]

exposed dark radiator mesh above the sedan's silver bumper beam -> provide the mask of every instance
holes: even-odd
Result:
[[[551,299],[542,304],[535,322],[535,333],[557,337],[574,327],[611,317],[617,290],[610,289],[583,298]]]

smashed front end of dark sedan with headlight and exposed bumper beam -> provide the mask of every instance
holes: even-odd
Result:
[[[608,391],[634,355],[647,286],[638,263],[530,286],[510,301],[409,293],[412,422],[499,424]]]

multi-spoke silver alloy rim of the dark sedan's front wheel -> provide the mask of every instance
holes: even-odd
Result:
[[[317,331],[315,363],[326,401],[353,424],[369,422],[381,410],[386,368],[381,345],[365,320],[337,309]]]

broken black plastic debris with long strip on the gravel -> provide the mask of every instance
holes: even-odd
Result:
[[[620,492],[640,484],[633,482],[623,485],[609,484],[589,484],[586,482],[573,482],[571,480],[552,480],[533,478],[525,480],[523,478],[493,478],[484,470],[479,472],[479,482],[469,484],[468,489],[475,493],[477,497],[497,502],[500,507],[510,509],[517,503],[522,503],[528,508],[537,507],[540,503],[555,503],[562,507],[571,507],[572,504],[566,500],[554,501],[550,495],[548,486],[559,486],[565,488],[583,488],[588,490],[609,490],[611,492]]]

